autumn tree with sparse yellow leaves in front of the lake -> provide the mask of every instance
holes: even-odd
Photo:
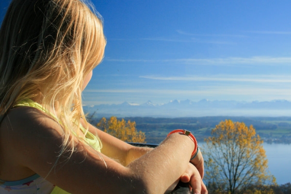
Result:
[[[263,141],[251,125],[222,121],[211,131],[204,151],[207,184],[224,186],[228,194],[243,194],[251,185],[275,183],[268,171]],[[272,193],[272,192],[271,192]]]

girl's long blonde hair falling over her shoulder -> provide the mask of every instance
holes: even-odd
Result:
[[[39,99],[62,125],[61,154],[74,149],[82,83],[105,45],[102,18],[84,1],[12,0],[0,29],[0,122],[17,101]]]

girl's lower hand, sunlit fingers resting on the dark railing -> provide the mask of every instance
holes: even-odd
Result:
[[[200,177],[200,173],[192,163],[188,164],[180,180],[190,184],[193,194],[208,194],[207,188]]]

